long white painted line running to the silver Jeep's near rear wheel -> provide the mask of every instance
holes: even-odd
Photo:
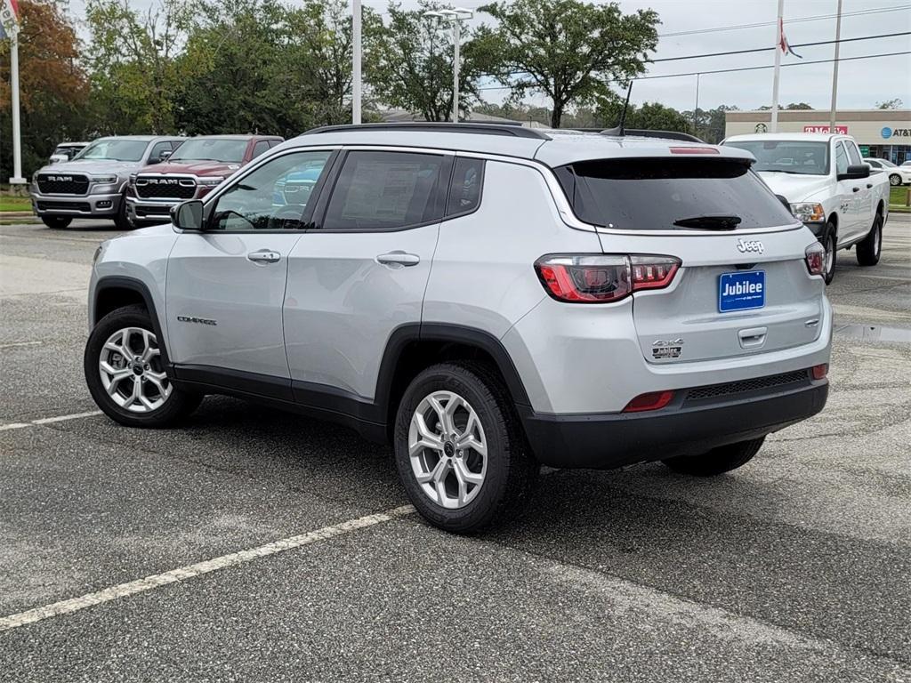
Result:
[[[168,586],[169,584],[178,583],[179,581],[186,581],[195,576],[209,574],[217,569],[242,565],[245,562],[250,562],[259,557],[276,555],[278,553],[283,553],[286,550],[299,548],[302,545],[310,545],[312,543],[317,543],[318,541],[334,538],[335,536],[350,534],[353,531],[366,528],[367,526],[391,522],[397,517],[411,515],[413,512],[415,512],[415,508],[411,505],[402,505],[401,507],[395,507],[392,510],[387,510],[386,512],[377,515],[365,515],[363,517],[358,517],[357,519],[348,520],[342,524],[323,526],[321,529],[310,531],[306,534],[283,538],[280,541],[273,541],[272,543],[260,545],[259,547],[251,548],[249,550],[241,550],[238,553],[231,553],[230,555],[204,560],[203,562],[197,562],[195,565],[181,566],[177,569],[171,569],[164,574],[153,574],[152,576],[146,576],[145,578],[140,578],[136,581],[130,581],[127,584],[110,586],[109,588],[104,588],[96,593],[89,593],[85,596],[61,600],[53,605],[29,609],[25,612],[19,612],[17,614],[9,615],[8,617],[0,618],[0,632],[8,631],[11,628],[26,626],[26,624],[34,624],[36,621],[41,621],[42,619],[72,614],[80,609],[100,605],[102,603],[110,602],[111,600],[117,600],[121,597],[135,596],[137,593],[143,593],[153,588]]]

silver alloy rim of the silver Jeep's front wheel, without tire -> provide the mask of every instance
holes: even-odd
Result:
[[[141,327],[127,327],[107,338],[98,357],[98,373],[110,399],[130,413],[158,410],[171,394],[158,339]]]

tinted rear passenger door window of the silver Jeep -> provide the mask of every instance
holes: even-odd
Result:
[[[323,229],[396,229],[440,218],[444,158],[351,152],[326,209]]]

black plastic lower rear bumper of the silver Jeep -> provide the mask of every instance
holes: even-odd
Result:
[[[650,413],[551,415],[527,406],[517,410],[542,464],[612,469],[701,454],[777,432],[822,411],[828,392],[827,380],[814,382],[807,372],[804,381],[772,390],[696,399],[681,392],[667,408]]]

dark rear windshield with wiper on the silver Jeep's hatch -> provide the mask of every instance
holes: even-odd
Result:
[[[578,218],[605,228],[691,229],[701,217],[735,217],[738,229],[794,222],[742,161],[622,158],[580,161],[555,172]],[[688,224],[674,225],[677,221]]]

